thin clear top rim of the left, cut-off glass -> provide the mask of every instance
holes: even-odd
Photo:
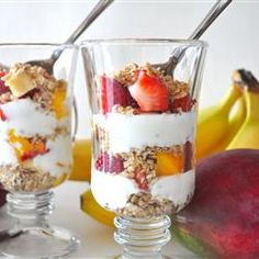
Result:
[[[77,44],[71,43],[0,43],[1,47],[71,47],[79,48]]]

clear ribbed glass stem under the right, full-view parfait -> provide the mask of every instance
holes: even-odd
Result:
[[[124,259],[162,258],[161,248],[171,239],[168,216],[151,218],[115,218],[114,239],[123,246]]]

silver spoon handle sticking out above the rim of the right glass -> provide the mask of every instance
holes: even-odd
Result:
[[[225,8],[232,2],[232,0],[218,0],[198,25],[189,40],[199,40],[201,35],[207,30],[207,27],[215,21],[215,19],[225,10]]]

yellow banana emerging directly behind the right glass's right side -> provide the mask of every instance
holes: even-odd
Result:
[[[232,85],[217,104],[199,111],[196,132],[196,158],[212,154],[224,140],[228,131],[229,112],[241,92]]]

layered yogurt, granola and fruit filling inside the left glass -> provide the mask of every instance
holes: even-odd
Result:
[[[40,66],[0,72],[0,183],[9,191],[53,188],[70,173],[67,82]]]

